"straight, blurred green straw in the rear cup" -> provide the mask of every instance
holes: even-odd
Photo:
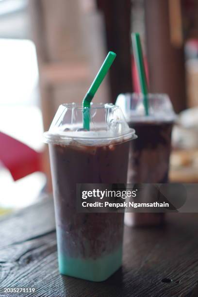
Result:
[[[133,47],[133,53],[135,58],[135,64],[138,70],[140,88],[143,94],[145,114],[148,115],[148,86],[147,86],[146,72],[145,72],[145,66],[143,61],[142,46],[141,46],[139,33],[132,33],[132,47]]]

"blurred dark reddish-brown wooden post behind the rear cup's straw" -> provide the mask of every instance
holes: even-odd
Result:
[[[183,45],[171,43],[168,0],[145,0],[150,91],[167,93],[178,113],[186,108]]]

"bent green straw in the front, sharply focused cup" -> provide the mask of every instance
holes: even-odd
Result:
[[[89,116],[89,109],[90,109],[90,103],[91,100],[94,98],[94,95],[96,94],[101,82],[103,81],[105,75],[107,74],[109,68],[111,67],[112,63],[114,62],[114,59],[116,57],[115,52],[110,51],[108,55],[106,56],[102,66],[99,69],[99,72],[97,73],[94,81],[92,82],[88,92],[86,93],[83,101],[83,128],[89,131],[89,122],[90,122],[90,116]]]

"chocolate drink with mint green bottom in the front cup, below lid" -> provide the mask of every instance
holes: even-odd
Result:
[[[77,213],[77,183],[126,183],[130,142],[49,144],[59,269],[103,281],[121,265],[123,213]]]

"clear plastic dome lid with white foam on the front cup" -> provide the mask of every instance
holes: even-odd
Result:
[[[53,144],[109,145],[136,138],[122,111],[113,104],[91,104],[90,131],[83,130],[83,108],[75,103],[59,107],[44,141]]]

